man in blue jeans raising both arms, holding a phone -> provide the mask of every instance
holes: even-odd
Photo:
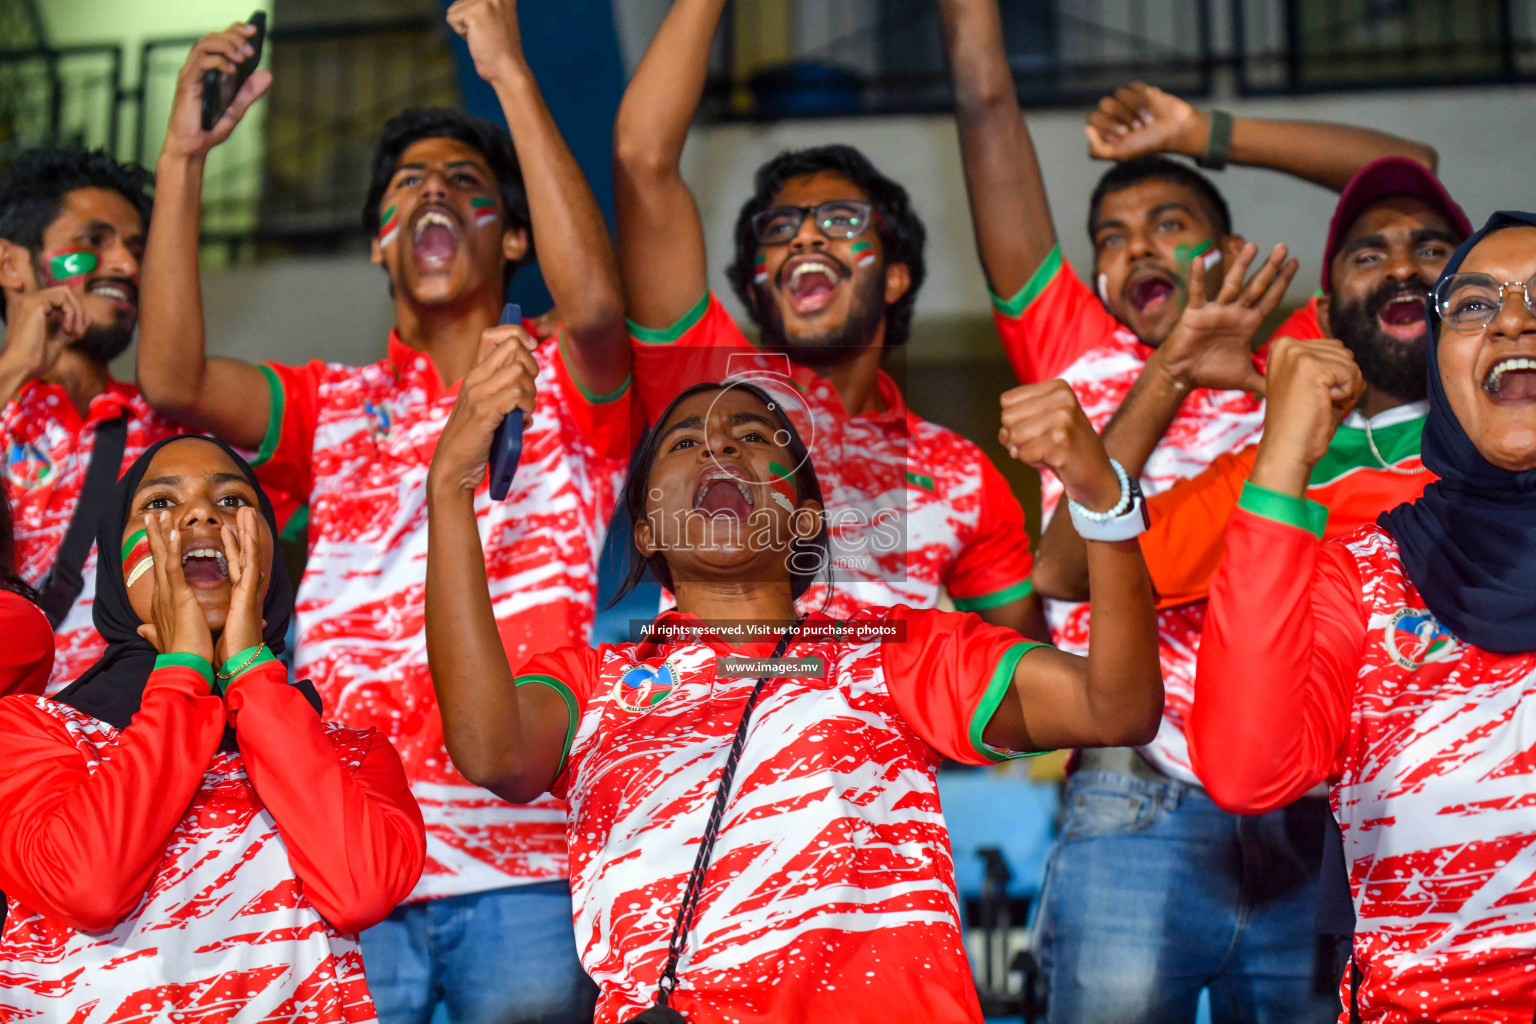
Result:
[[[203,74],[249,52],[249,29],[194,48],[160,160],[140,381],[158,408],[258,448],[264,479],[309,496],[295,668],[339,722],[376,726],[399,748],[427,823],[421,883],[362,935],[381,1019],[424,1021],[441,1001],[462,1024],[576,1021],[590,1018],[591,989],[571,940],[562,806],[498,800],[465,781],[442,745],[422,626],[425,481],[482,338],[533,348],[538,404],[524,410],[521,468],[502,502],[476,488],[475,516],[508,660],[590,640],[598,553],[630,448],[628,339],[602,216],[524,60],[511,0],[461,0],[449,25],[501,97],[511,140],[445,109],[384,126],[362,218],[396,325],[386,358],[367,367],[204,356],[203,161],[270,77],[252,75],[204,135]],[[496,325],[535,239],[564,316],[538,344],[521,325]]]

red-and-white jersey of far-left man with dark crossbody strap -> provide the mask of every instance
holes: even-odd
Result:
[[[40,583],[54,567],[86,482],[97,427],[123,411],[127,411],[127,441],[123,445],[121,470],[161,438],[181,433],[181,427],[149,408],[137,387],[121,381],[108,382],[106,391],[91,402],[84,419],[65,388],[43,381],[25,384],[0,410],[6,490],[15,524],[15,563],[28,583]],[[91,622],[95,560],[92,545],[81,571],[84,586],[80,597],[54,631],[49,694],[74,682],[106,649],[106,642]]]

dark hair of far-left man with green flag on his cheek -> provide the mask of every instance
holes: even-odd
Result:
[[[121,193],[138,210],[147,232],[154,181],[155,177],[138,164],[118,163],[101,149],[29,149],[11,161],[0,178],[0,238],[35,258],[43,247],[43,232],[75,189]],[[5,321],[3,302],[0,321]]]

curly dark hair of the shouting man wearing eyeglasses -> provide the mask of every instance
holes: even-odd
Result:
[[[923,241],[928,232],[912,209],[912,200],[906,195],[906,189],[876,170],[869,158],[852,146],[793,149],[779,154],[757,169],[753,178],[753,197],[746,200],[742,212],[736,216],[736,259],[725,269],[725,276],[731,281],[736,296],[742,299],[742,306],[751,310],[756,318],[753,259],[757,255],[757,239],[753,235],[753,216],[766,210],[773,198],[793,178],[823,172],[848,178],[869,198],[876,209],[874,224],[880,235],[880,246],[885,249],[885,261],[906,264],[912,286],[906,289],[906,295],[891,302],[885,310],[886,347],[905,345],[912,332],[912,304],[917,302],[917,290],[923,286],[923,278],[928,273],[923,263]]]

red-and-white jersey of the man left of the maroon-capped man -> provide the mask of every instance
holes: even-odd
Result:
[[[1072,385],[1094,430],[1120,408],[1141,376],[1150,345],[1117,321],[1098,296],[1052,249],[1034,279],[1009,301],[994,296],[994,321],[1014,372],[1025,384],[1061,378]],[[1227,451],[1255,444],[1264,427],[1263,399],[1243,391],[1190,391],[1174,424],[1141,470],[1141,490],[1152,496],[1201,473]],[[1040,473],[1040,505],[1046,522],[1061,499],[1061,481]],[[1046,600],[1051,639],[1063,651],[1087,654],[1089,605]],[[1163,662],[1163,723],[1141,752],[1174,778],[1198,785],[1189,768],[1184,723],[1193,700],[1195,654],[1206,619],[1204,602],[1158,611]]]

